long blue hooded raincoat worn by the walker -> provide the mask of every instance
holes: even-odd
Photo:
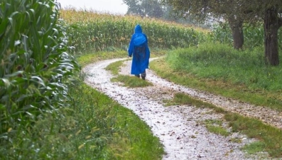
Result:
[[[136,37],[139,37],[140,35],[143,35],[146,38],[145,42],[145,56],[140,58],[139,56],[134,55],[134,39]],[[148,38],[146,34],[142,32],[142,28],[139,24],[136,25],[134,29],[134,34],[131,36],[131,41],[129,43],[129,57],[133,55],[132,58],[132,65],[131,65],[131,75],[139,75],[141,73],[144,73],[146,68],[148,68],[149,65],[149,58],[150,58],[150,50],[148,48]]]

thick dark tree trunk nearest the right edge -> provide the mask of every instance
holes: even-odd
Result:
[[[275,7],[267,9],[264,15],[264,58],[269,65],[279,65],[278,28],[280,27],[278,11]]]

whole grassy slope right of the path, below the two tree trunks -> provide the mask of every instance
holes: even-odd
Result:
[[[263,55],[211,43],[171,51],[151,68],[180,85],[282,111],[282,70],[264,65]]]

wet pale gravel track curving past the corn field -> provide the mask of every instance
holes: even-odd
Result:
[[[83,71],[87,73],[85,82],[109,95],[124,107],[133,110],[143,119],[165,147],[166,155],[163,156],[163,160],[266,159],[266,153],[254,156],[244,154],[240,150],[244,144],[253,142],[254,139],[248,139],[245,135],[238,133],[222,137],[207,132],[205,125],[201,122],[205,119],[222,119],[221,114],[189,105],[164,107],[162,101],[172,98],[175,92],[186,92],[203,101],[224,107],[226,110],[240,112],[251,117],[260,117],[259,119],[264,122],[279,128],[282,126],[281,113],[175,85],[158,78],[152,70],[147,70],[146,80],[153,82],[153,87],[122,87],[118,83],[111,82],[112,75],[104,70],[107,65],[117,60],[123,59],[104,60],[87,65],[83,68]],[[120,74],[129,75],[131,61],[126,61],[125,64]],[[232,142],[231,139],[240,139],[242,143]]]

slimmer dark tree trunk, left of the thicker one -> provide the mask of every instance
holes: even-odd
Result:
[[[242,49],[244,45],[243,21],[230,16],[229,27],[232,31],[233,47],[237,50]]]

